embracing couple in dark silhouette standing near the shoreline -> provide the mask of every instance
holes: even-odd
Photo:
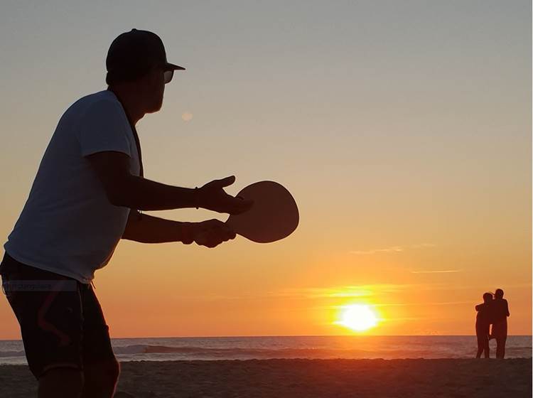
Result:
[[[478,353],[476,358],[485,353],[485,358],[490,357],[489,340],[496,339],[496,357],[505,357],[505,341],[507,340],[507,316],[509,316],[509,304],[503,298],[502,289],[496,289],[495,293],[483,294],[483,303],[475,306],[478,311],[475,317],[475,335],[478,338]],[[492,325],[492,330],[490,330]]]

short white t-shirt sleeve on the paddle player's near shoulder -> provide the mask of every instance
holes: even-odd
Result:
[[[122,109],[112,101],[98,101],[90,105],[77,129],[82,156],[118,151],[131,157],[127,133],[129,125],[121,112]]]

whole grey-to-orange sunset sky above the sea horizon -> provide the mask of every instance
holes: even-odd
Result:
[[[123,240],[95,277],[113,338],[350,335],[352,304],[367,334],[471,335],[497,288],[531,334],[531,18],[526,0],[3,1],[1,244],[61,114],[146,29],[187,69],[137,124],[146,178],[277,181],[301,219],[271,244]]]

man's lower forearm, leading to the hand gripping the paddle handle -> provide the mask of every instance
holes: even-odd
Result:
[[[141,243],[183,242],[190,235],[191,222],[165,220],[143,214],[141,220],[133,210],[130,213],[122,239]]]

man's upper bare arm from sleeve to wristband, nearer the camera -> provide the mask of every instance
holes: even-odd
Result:
[[[139,210],[171,210],[198,206],[198,190],[166,185],[130,176],[122,187],[117,205]]]

